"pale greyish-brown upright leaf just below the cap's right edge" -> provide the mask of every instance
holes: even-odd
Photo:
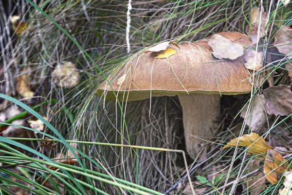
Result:
[[[247,115],[246,124],[250,126],[252,132],[257,132],[267,122],[267,115],[265,112],[265,97],[264,95],[255,96],[252,110]],[[247,106],[245,106],[240,116],[245,118]]]

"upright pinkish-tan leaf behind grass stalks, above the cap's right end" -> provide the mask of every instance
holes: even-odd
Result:
[[[251,27],[249,25],[245,28],[245,33],[250,35],[253,44],[257,43],[257,36],[259,38],[265,35],[265,27],[269,19],[266,17],[266,12],[263,7],[254,7],[251,12]],[[259,31],[258,31],[259,30]]]

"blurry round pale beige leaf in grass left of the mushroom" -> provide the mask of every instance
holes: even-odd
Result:
[[[80,80],[79,72],[75,70],[76,65],[72,62],[58,64],[52,72],[53,82],[58,87],[73,88]]]

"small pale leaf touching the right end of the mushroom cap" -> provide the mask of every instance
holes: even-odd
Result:
[[[263,56],[262,52],[256,53],[256,51],[253,49],[246,50],[244,52],[244,55],[242,56],[245,68],[249,70],[255,69],[256,71],[261,69],[263,67],[262,56]]]

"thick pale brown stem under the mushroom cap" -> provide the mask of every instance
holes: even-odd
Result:
[[[218,127],[220,95],[193,93],[179,94],[178,96],[183,108],[186,151],[192,159],[195,159],[201,151],[203,144],[207,143],[204,140],[210,140],[214,136],[215,129]],[[207,150],[207,146],[205,146],[201,155],[205,154]]]

